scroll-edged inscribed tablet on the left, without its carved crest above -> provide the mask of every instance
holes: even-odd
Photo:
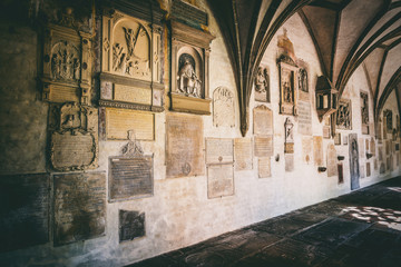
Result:
[[[50,144],[51,165],[57,170],[97,168],[96,135],[84,130],[53,131]]]

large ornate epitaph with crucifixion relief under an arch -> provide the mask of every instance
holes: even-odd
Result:
[[[160,22],[164,11],[136,2],[125,2],[124,7],[130,12],[108,8],[102,12],[99,105],[160,112],[164,110]]]

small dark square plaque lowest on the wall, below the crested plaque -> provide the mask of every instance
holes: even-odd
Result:
[[[145,236],[145,212],[120,209],[118,228],[120,243]]]

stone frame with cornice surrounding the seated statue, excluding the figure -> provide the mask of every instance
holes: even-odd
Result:
[[[172,27],[172,88],[170,109],[174,111],[211,115],[211,99],[208,88],[208,61],[209,43],[215,38],[211,33],[194,29],[175,20]],[[183,53],[190,55],[196,63],[196,70],[200,80],[200,93],[198,97],[178,92],[177,75],[179,71],[179,57]]]

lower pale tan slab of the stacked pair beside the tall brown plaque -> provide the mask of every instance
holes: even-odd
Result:
[[[207,197],[234,195],[234,168],[232,164],[207,166]]]

